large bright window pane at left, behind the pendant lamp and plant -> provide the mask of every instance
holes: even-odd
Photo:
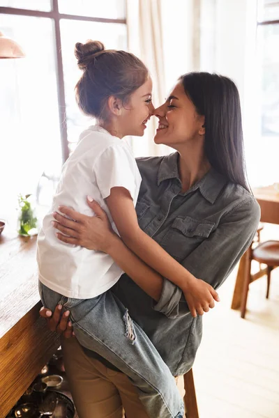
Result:
[[[61,135],[52,20],[0,15],[0,31],[26,53],[24,59],[0,60],[0,217],[10,217],[20,192],[51,203]]]

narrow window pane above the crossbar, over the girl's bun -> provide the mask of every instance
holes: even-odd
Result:
[[[125,0],[59,0],[59,12],[68,15],[125,19]]]

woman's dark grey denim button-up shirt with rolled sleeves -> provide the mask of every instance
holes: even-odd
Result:
[[[137,160],[142,185],[137,217],[142,230],[195,277],[217,289],[257,230],[255,198],[214,169],[181,193],[178,153]],[[192,366],[202,339],[202,316],[193,318],[180,288],[163,279],[155,302],[126,274],[113,288],[174,376]]]

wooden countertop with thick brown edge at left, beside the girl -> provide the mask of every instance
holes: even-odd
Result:
[[[22,396],[56,348],[59,336],[40,318],[36,238],[0,235],[0,418]]]

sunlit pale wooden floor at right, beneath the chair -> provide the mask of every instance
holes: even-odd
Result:
[[[250,286],[246,319],[230,304],[236,271],[221,302],[204,315],[193,368],[199,418],[279,418],[279,268]]]

